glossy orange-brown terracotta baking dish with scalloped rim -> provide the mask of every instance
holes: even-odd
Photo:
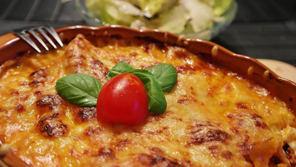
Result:
[[[214,61],[234,72],[244,75],[248,79],[254,80],[258,85],[266,88],[271,94],[284,101],[289,109],[296,111],[296,84],[294,82],[279,77],[273,71],[253,58],[235,54],[213,42],[199,39],[184,39],[182,36],[158,30],[141,32],[124,26],[69,26],[59,28],[56,31],[63,43],[70,42],[77,34],[84,34],[86,36],[108,35],[116,38],[157,40],[159,42],[184,47],[193,54],[213,53],[212,59]],[[218,53],[216,55],[215,51],[217,51],[217,48]],[[28,50],[30,50],[29,45],[13,34],[10,33],[0,36],[0,64],[16,56],[20,56]],[[3,144],[3,140],[0,139],[0,146]],[[5,150],[2,150],[3,148],[4,147],[1,147],[0,149],[0,159],[7,163],[7,165],[12,167],[29,166],[20,158],[16,157],[12,149],[9,149],[9,152],[7,153]]]

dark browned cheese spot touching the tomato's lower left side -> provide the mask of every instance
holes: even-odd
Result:
[[[74,112],[74,120],[76,123],[91,122],[96,117],[96,107],[76,108]]]

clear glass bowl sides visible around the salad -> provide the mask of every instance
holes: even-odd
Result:
[[[85,6],[85,0],[75,0],[76,7],[81,17],[86,21],[86,24],[92,27],[104,26],[105,23],[102,23],[100,16],[95,12],[89,11]],[[215,23],[214,26],[210,29],[206,29],[199,32],[192,33],[180,33],[178,35],[184,35],[186,38],[190,39],[204,39],[211,40],[215,38],[220,32],[224,31],[234,20],[237,15],[238,4],[236,0],[233,0],[233,3],[226,9],[226,11],[221,15],[224,19],[220,23]]]

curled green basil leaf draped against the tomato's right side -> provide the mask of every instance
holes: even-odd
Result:
[[[163,114],[167,108],[167,102],[154,75],[142,69],[135,69],[127,73],[136,75],[143,82],[149,99],[149,112]]]

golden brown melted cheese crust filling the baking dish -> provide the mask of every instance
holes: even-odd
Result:
[[[295,151],[281,136],[295,128],[295,116],[266,89],[181,47],[92,41],[78,35],[65,48],[1,66],[0,135],[30,165],[295,166]],[[119,61],[136,69],[175,66],[178,82],[165,93],[164,114],[149,113],[137,126],[103,124],[95,107],[72,105],[55,90],[72,73],[104,84]]]

